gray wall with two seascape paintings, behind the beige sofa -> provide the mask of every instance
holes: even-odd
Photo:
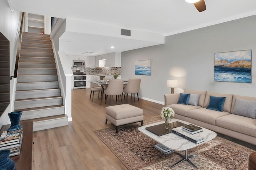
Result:
[[[167,79],[184,89],[256,97],[256,16],[165,37],[165,44],[122,52],[122,79],[141,78],[139,96],[164,102]],[[252,83],[214,82],[214,53],[252,50]],[[134,74],[134,62],[151,59],[151,76]]]

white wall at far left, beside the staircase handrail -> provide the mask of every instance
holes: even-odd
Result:
[[[20,17],[20,12],[11,12],[7,0],[0,1],[0,32],[10,41],[10,75],[14,74]],[[14,87],[16,84],[15,80],[12,79],[10,81],[10,105],[0,118],[0,127],[10,124],[8,113],[14,110]]]

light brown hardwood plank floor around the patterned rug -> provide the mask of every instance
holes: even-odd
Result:
[[[126,170],[127,168],[94,134],[95,130],[114,126],[105,125],[105,108],[110,106],[94,94],[89,100],[90,89],[72,90],[72,122],[68,126],[37,131],[33,134],[34,170]],[[126,102],[126,101],[125,101]],[[111,105],[115,105],[113,99]],[[117,104],[121,104],[118,100]],[[135,99],[128,104],[144,110],[144,120],[160,116],[163,107],[146,100]]]

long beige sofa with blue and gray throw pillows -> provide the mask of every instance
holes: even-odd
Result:
[[[247,107],[247,104],[249,103],[250,105],[253,105],[249,108],[250,113],[256,114],[256,98],[196,90],[184,90],[184,94],[200,94],[198,103],[196,102],[195,104],[194,102],[194,105],[178,104],[180,94],[164,95],[164,104],[166,107],[171,107],[174,110],[174,118],[188,121],[212,131],[256,145],[255,117],[250,118],[250,116],[247,117],[248,115],[244,116],[237,113],[237,110],[239,109],[240,112],[248,112],[247,108],[251,107]],[[226,97],[223,104],[223,111],[207,109],[211,98],[210,96]],[[241,104],[244,104],[246,107],[241,106]],[[236,109],[236,114],[234,114],[234,107]]]

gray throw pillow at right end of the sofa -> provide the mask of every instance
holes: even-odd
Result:
[[[256,101],[236,98],[234,114],[256,119]]]

